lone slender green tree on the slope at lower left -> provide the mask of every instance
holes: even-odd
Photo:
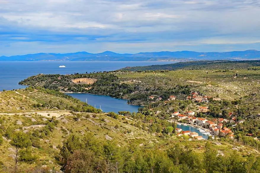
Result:
[[[17,131],[12,136],[10,144],[15,147],[15,170],[17,172],[18,163],[21,161],[32,161],[31,150],[28,148],[32,145],[29,136],[23,132]],[[25,150],[24,150],[25,149]]]

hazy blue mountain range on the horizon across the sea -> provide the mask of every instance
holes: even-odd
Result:
[[[194,51],[163,51],[141,52],[138,54],[118,54],[105,51],[98,54],[76,52],[67,54],[27,54],[0,56],[0,61],[196,61],[196,60],[256,60],[260,59],[260,51],[232,52],[194,52]]]

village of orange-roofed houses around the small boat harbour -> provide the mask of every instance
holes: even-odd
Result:
[[[150,96],[149,99],[154,99],[155,96]],[[236,119],[236,115],[233,112],[228,113],[228,119],[224,118],[210,118],[210,117],[199,117],[200,113],[206,114],[210,111],[209,106],[205,106],[208,104],[209,96],[203,96],[203,94],[199,92],[192,91],[186,98],[186,100],[190,100],[193,103],[198,103],[199,106],[196,110],[189,110],[189,111],[174,111],[170,114],[168,122],[176,122],[179,125],[185,126],[192,126],[197,128],[199,132],[203,135],[211,136],[211,138],[215,137],[227,137],[227,138],[234,138],[234,132],[230,128],[225,127],[228,124],[234,124],[232,127],[235,127],[239,123],[243,123],[244,120]],[[162,98],[158,97],[156,101],[160,101]],[[169,96],[168,100],[171,101],[175,100],[176,96]],[[182,112],[182,113],[180,113]],[[160,114],[161,111],[155,111],[155,114]],[[193,140],[203,140],[202,136],[199,136],[197,132],[185,131],[180,128],[176,128],[176,135],[177,136],[188,136],[190,139]]]

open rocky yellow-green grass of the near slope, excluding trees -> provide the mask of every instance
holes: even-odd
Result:
[[[52,98],[53,102],[59,101],[63,98],[53,96],[48,94],[42,94],[40,91],[34,90],[33,92],[25,91],[25,90],[17,90],[18,93],[23,94],[25,97],[28,97],[28,102],[24,102],[23,106],[26,107],[26,111],[35,111],[34,109],[30,109],[30,104],[34,103],[35,100],[42,98]],[[0,93],[2,101],[5,99],[7,102],[9,99],[12,99],[12,105],[20,105],[21,101],[19,99],[15,99],[17,93],[13,91],[6,91]],[[8,97],[7,97],[8,96]],[[55,99],[54,99],[55,98]],[[23,101],[23,100],[22,100]],[[68,100],[65,100],[68,101]],[[69,102],[69,101],[68,101]],[[8,106],[7,106],[8,107]],[[15,107],[15,106],[13,106]],[[50,133],[50,135],[45,136],[39,140],[39,146],[37,148],[32,148],[33,153],[38,156],[38,160],[31,164],[22,164],[21,168],[25,169],[26,167],[36,166],[36,165],[47,165],[50,167],[55,167],[56,169],[59,166],[56,164],[54,156],[59,152],[55,149],[55,146],[61,145],[62,141],[65,140],[68,136],[68,133],[77,133],[78,135],[84,135],[88,132],[94,133],[97,138],[106,140],[105,136],[108,135],[113,138],[112,141],[117,143],[118,145],[128,145],[129,143],[135,144],[136,147],[139,147],[140,144],[143,144],[142,147],[145,148],[161,148],[167,149],[169,146],[174,145],[175,143],[179,143],[182,146],[186,146],[192,148],[195,152],[200,155],[204,151],[205,141],[187,141],[187,139],[176,138],[176,136],[171,136],[166,139],[161,139],[157,135],[153,135],[147,133],[139,128],[136,128],[131,123],[136,123],[133,119],[132,121],[129,119],[125,119],[125,117],[119,116],[119,119],[113,119],[111,117],[106,116],[105,114],[92,114],[92,113],[78,113],[80,114],[81,121],[75,121],[74,117],[70,111],[57,111],[49,110],[47,113],[50,116],[43,114],[41,110],[35,113],[21,113],[21,114],[8,114],[6,109],[0,111],[1,119],[3,123],[1,124],[2,133],[5,133],[5,130],[9,127],[12,130],[23,130],[23,127],[29,125],[36,124],[44,124],[42,118],[51,119],[52,114],[56,114],[56,117],[64,115],[64,119],[68,120],[68,123],[63,123],[62,120],[59,120],[54,130]],[[12,112],[8,110],[8,112]],[[20,110],[15,110],[13,113],[20,112]],[[58,114],[58,115],[57,115]],[[43,116],[44,115],[44,116]],[[31,116],[31,117],[28,117]],[[88,119],[89,117],[89,119]],[[32,122],[31,118],[36,119],[37,122]],[[54,118],[55,119],[55,118]],[[17,120],[23,122],[22,125],[17,125]],[[128,123],[126,123],[128,122]],[[118,125],[118,129],[115,128],[115,125]],[[28,129],[29,132],[33,132],[36,129]],[[130,132],[131,130],[131,132]],[[129,131],[130,133],[126,132]],[[240,146],[240,145],[239,145]],[[8,148],[11,145],[8,141],[4,140],[3,144],[0,145],[0,153],[1,159],[0,161],[4,163],[5,166],[12,167],[13,160],[9,156],[13,154]],[[232,152],[232,145],[222,142],[221,145],[216,145],[215,148],[219,151],[222,151],[225,155],[228,155]],[[257,151],[251,149],[250,147],[238,147],[239,153],[241,155],[245,155],[249,153],[256,153]]]

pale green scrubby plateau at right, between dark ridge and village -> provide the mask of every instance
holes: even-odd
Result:
[[[236,73],[238,76],[236,76]],[[142,81],[148,87],[171,88],[176,85],[190,85],[192,90],[223,99],[238,99],[251,93],[259,93],[260,74],[248,70],[177,70],[169,72],[126,72],[118,73],[122,82]],[[138,83],[138,82],[136,82]],[[149,86],[149,85],[150,86]]]

